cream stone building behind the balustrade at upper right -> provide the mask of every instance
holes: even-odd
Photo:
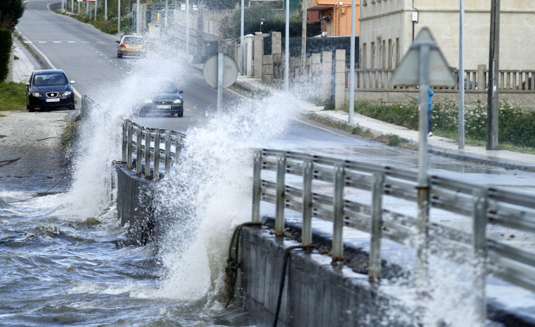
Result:
[[[488,65],[491,0],[466,0],[465,69]],[[360,68],[394,69],[424,26],[459,66],[459,0],[360,0]],[[416,21],[413,21],[416,20]],[[500,1],[500,70],[535,71],[535,1]]]

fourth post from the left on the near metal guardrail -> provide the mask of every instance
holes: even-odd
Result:
[[[343,165],[334,166],[332,262],[343,261]]]

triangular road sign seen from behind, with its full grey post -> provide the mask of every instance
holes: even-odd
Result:
[[[401,60],[391,80],[394,85],[419,85],[420,119],[418,136],[418,227],[416,287],[419,295],[428,290],[428,109],[430,85],[454,85],[452,71],[428,28],[422,28]]]

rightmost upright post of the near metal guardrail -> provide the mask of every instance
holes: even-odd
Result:
[[[486,189],[474,190],[474,283],[472,295],[474,296],[474,319],[478,326],[485,326],[487,319],[486,297],[486,243],[487,243],[487,192]]]

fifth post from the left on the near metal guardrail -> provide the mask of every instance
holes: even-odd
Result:
[[[372,285],[381,280],[382,194],[384,174],[374,174],[372,186],[372,230],[370,233],[370,269],[368,278]]]

